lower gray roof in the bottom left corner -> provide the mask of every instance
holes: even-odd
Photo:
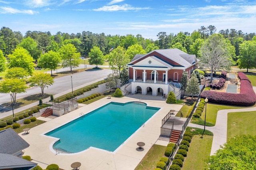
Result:
[[[22,170],[29,170],[36,165],[36,163],[19,158],[18,156],[0,153],[0,169],[22,168]]]

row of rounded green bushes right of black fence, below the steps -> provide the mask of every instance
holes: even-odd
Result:
[[[172,165],[170,166],[169,170],[180,170],[180,168],[183,166],[184,157],[187,156],[188,147],[190,146],[192,136],[193,135],[190,132],[184,132],[179,150],[174,156],[174,160],[172,161]]]

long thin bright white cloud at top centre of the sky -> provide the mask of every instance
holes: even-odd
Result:
[[[103,6],[98,9],[93,9],[94,11],[105,11],[105,12],[113,12],[113,11],[131,11],[131,10],[146,10],[147,8],[135,8],[128,4],[120,5],[112,5],[112,6]]]

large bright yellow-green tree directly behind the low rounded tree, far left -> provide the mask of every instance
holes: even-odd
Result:
[[[21,67],[24,68],[30,75],[34,71],[34,59],[28,53],[28,51],[22,47],[14,49],[12,54],[9,54],[10,58],[9,68]]]

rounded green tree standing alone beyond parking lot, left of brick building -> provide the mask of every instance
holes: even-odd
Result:
[[[88,61],[91,65],[96,64],[96,67],[98,67],[98,65],[104,64],[103,53],[99,47],[94,46],[89,52],[89,57]]]

